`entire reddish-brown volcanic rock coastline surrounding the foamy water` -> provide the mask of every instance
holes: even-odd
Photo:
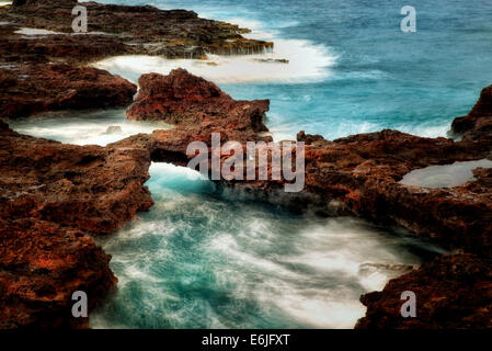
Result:
[[[211,133],[220,133],[222,141],[272,140],[265,126],[267,100],[234,101],[214,83],[179,69],[141,76],[133,102],[134,84],[85,66],[112,55],[199,59],[206,53],[264,50],[272,43],[243,39],[245,30],[190,11],[94,2],[87,3],[96,14],[90,30],[113,35],[70,35],[59,19],[71,18],[75,3],[27,0],[0,9],[9,22],[0,25],[0,66],[7,67],[0,68],[0,328],[88,327],[87,318],[70,315],[71,293],[89,292],[92,309],[116,286],[110,257],[93,237],[114,233],[152,206],[145,186],[151,161],[185,166],[188,143],[209,145]],[[135,21],[136,15],[141,20]],[[162,26],[156,31],[149,21]],[[21,27],[65,34],[33,41],[15,34]],[[157,43],[165,45],[150,45]],[[474,180],[448,189],[399,182],[427,166],[491,159],[491,92],[492,86],[485,88],[470,113],[454,121],[459,141],[398,131],[332,141],[297,135],[306,143],[306,188],[287,205],[399,225],[453,252],[391,280],[382,292],[363,295],[367,314],[356,328],[491,327],[492,169],[476,169]],[[129,106],[130,120],[175,127],[98,147],[21,135],[7,124],[44,111],[113,106]],[[222,185],[274,201],[284,183]],[[400,294],[408,290],[419,298],[416,318],[400,315]]]

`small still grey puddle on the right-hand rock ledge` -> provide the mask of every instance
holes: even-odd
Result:
[[[409,186],[455,188],[474,180],[472,170],[479,167],[492,168],[492,161],[482,159],[415,169],[405,174],[400,183]]]

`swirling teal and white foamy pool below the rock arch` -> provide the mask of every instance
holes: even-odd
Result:
[[[226,200],[188,169],[150,167],[156,205],[114,236],[118,291],[93,328],[352,328],[358,302],[421,245],[354,218]],[[365,268],[366,267],[366,268]]]

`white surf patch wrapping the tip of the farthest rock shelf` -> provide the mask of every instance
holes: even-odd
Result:
[[[253,32],[250,36],[262,37],[262,34]],[[206,60],[117,56],[95,63],[93,66],[134,82],[144,73],[168,75],[172,69],[180,67],[216,83],[313,82],[322,81],[331,75],[330,67],[335,64],[336,57],[325,46],[298,39],[273,38],[273,41],[275,43],[273,53],[258,55],[208,55]],[[275,61],[277,59],[287,59],[288,64]]]

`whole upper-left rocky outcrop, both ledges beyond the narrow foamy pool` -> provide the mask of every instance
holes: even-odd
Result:
[[[185,10],[84,2],[89,34],[72,33],[75,0],[15,1],[0,8],[0,117],[59,109],[125,106],[136,90],[117,76],[80,67],[115,55],[205,58],[254,54],[273,43],[247,39],[249,30]],[[52,31],[25,35],[22,27]],[[68,67],[67,65],[70,65]]]

